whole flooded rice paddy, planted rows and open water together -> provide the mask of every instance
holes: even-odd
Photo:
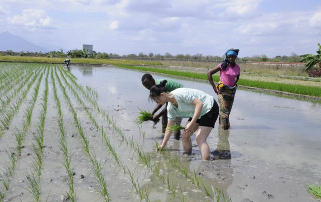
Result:
[[[191,156],[173,137],[159,152],[161,124],[134,123],[154,107],[144,72],[0,67],[0,201],[316,201],[306,185],[321,183],[319,103],[238,90],[231,129],[216,123],[208,137],[223,154],[203,161],[195,136]]]

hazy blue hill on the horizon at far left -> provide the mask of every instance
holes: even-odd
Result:
[[[48,52],[49,50],[35,45],[20,36],[14,35],[9,31],[0,33],[0,51],[13,50],[14,52]]]

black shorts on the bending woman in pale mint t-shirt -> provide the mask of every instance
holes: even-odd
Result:
[[[206,126],[206,127],[213,127],[215,125],[216,119],[219,116],[220,109],[219,105],[214,99],[213,106],[210,111],[205,113],[201,116],[201,118],[197,119],[196,122],[200,124],[200,126]],[[192,117],[189,118],[189,121],[192,120]]]

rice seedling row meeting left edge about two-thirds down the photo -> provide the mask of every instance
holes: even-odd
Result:
[[[0,125],[0,138],[3,135],[3,132],[5,131],[6,128],[8,128],[8,125],[10,124],[12,118],[14,117],[14,115],[18,112],[18,109],[20,108],[23,100],[26,98],[27,93],[30,89],[30,87],[33,85],[33,83],[35,82],[36,78],[37,78],[37,74],[41,69],[38,69],[38,71],[36,71],[35,73],[33,73],[32,75],[30,75],[30,77],[28,77],[28,82],[27,82],[27,86],[21,86],[21,88],[15,93],[15,103],[11,103],[10,106],[7,106],[7,110],[6,112],[4,112],[1,116],[0,116],[0,120],[2,125]],[[31,80],[30,80],[31,78]],[[20,93],[21,92],[21,93]],[[20,93],[20,94],[18,94]],[[12,101],[13,102],[13,101]]]

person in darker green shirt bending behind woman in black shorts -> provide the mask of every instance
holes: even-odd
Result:
[[[141,77],[141,83],[143,84],[143,86],[145,86],[148,90],[150,90],[151,86],[155,85],[155,84],[159,84],[162,80],[165,80],[164,78],[160,78],[160,79],[154,79],[152,77],[152,75],[150,75],[149,73],[145,73],[144,75],[142,75]],[[171,80],[171,79],[167,79],[167,83],[166,83],[166,87],[169,91],[175,90],[177,88],[180,87],[184,87],[181,83],[175,81],[175,80]],[[160,108],[162,108],[163,104],[159,104],[157,103],[155,108],[152,110],[151,114],[153,115],[153,121],[157,122],[159,120],[159,117],[162,117],[162,131],[165,132],[166,126],[167,126],[167,105],[168,103],[166,103],[166,106],[163,108],[163,110],[161,112],[159,112],[158,114],[155,115],[156,111]],[[182,122],[182,118],[178,117],[176,119],[176,123],[177,124],[181,124]],[[175,139],[180,139],[181,136],[181,132],[177,132],[175,134]]]

